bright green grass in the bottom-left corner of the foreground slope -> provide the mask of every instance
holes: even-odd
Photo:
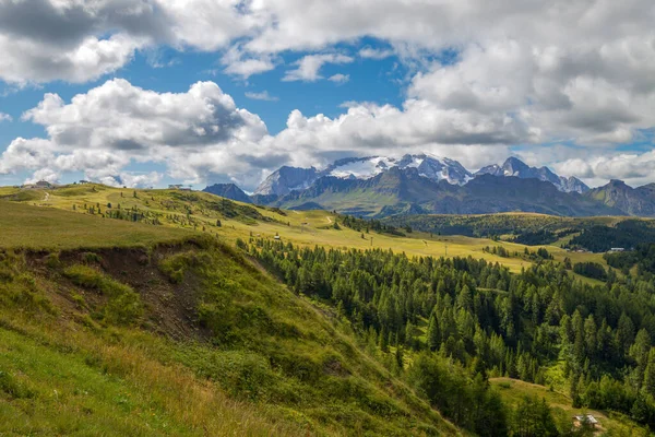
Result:
[[[9,328],[9,329],[8,329]],[[138,350],[0,328],[0,435],[298,435]],[[59,334],[59,335],[57,335]],[[72,334],[71,332],[68,335]],[[44,341],[46,340],[46,341]],[[83,344],[83,347],[80,347]]]

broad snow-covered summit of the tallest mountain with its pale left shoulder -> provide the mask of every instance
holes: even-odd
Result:
[[[282,167],[272,173],[254,193],[284,196],[294,190],[308,188],[323,176],[341,179],[370,179],[394,167],[401,169],[414,167],[420,176],[434,181],[444,179],[452,185],[464,185],[473,179],[473,174],[458,162],[425,153],[404,155],[401,158],[389,156],[348,157],[335,161],[322,170],[313,167]]]

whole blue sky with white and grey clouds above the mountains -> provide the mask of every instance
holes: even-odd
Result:
[[[652,0],[0,0],[0,185],[519,156],[655,182]]]

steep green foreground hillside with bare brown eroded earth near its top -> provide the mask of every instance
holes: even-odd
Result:
[[[95,215],[0,208],[0,435],[457,434],[209,232]]]

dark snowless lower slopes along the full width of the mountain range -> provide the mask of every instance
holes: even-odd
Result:
[[[367,217],[396,214],[487,214],[536,212],[567,216],[655,216],[655,184],[631,188],[620,180],[581,194],[565,192],[549,181],[481,174],[465,185],[425,176],[420,164],[396,165],[370,178],[321,176],[308,188],[287,194],[253,194],[233,184],[207,192],[290,210],[336,210]]]

